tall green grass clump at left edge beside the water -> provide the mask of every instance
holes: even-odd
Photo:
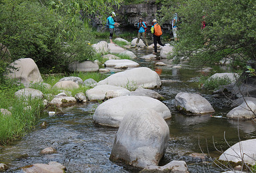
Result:
[[[27,108],[27,106],[31,108]],[[0,114],[0,144],[8,144],[23,136],[41,116],[43,102],[39,99],[16,98],[13,90],[1,90],[0,108],[6,108],[11,115]]]

